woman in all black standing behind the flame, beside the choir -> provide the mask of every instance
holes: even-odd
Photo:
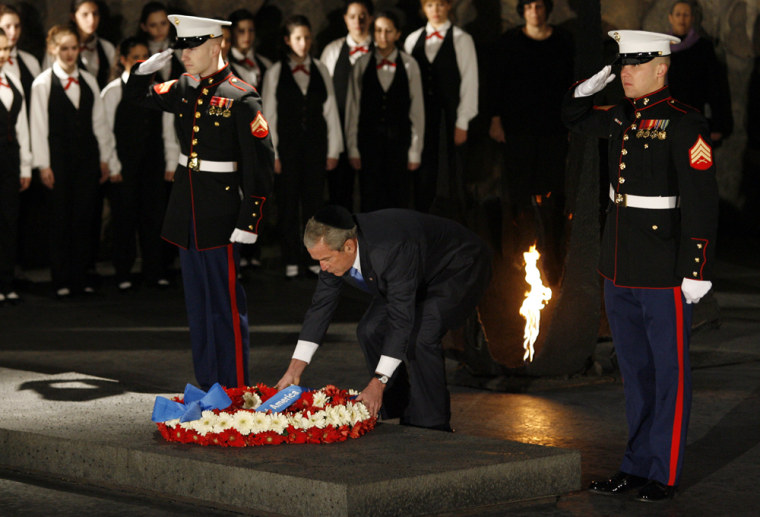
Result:
[[[573,83],[571,35],[548,23],[552,0],[519,0],[525,24],[498,42],[489,81],[490,136],[503,144],[502,202],[521,233],[517,251],[536,241],[550,280],[562,265],[565,158],[568,131],[562,124],[562,97]],[[540,218],[539,235],[525,217]],[[526,230],[527,229],[527,230]]]

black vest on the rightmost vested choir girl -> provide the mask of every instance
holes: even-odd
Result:
[[[422,72],[422,91],[425,98],[425,114],[437,116],[443,109],[449,123],[456,123],[456,111],[459,106],[459,86],[462,76],[459,74],[457,54],[454,49],[454,26],[449,27],[443,44],[438,49],[431,63],[425,55],[425,30],[423,29],[412,50]]]

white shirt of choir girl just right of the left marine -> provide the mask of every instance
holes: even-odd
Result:
[[[332,78],[330,77],[327,67],[320,61],[314,59],[314,64],[319,71],[322,81],[325,83],[327,89],[327,99],[322,105],[322,116],[327,123],[327,157],[335,158],[336,160],[343,152],[343,135],[340,129],[340,116],[338,115],[338,104],[335,101],[335,89],[333,88]],[[311,57],[307,56],[302,65],[306,70],[311,70]],[[280,70],[282,70],[283,61],[278,61],[273,64],[272,67],[267,70],[264,75],[264,87],[262,88],[262,105],[264,107],[264,118],[269,124],[269,136],[272,138],[272,145],[274,146],[274,157],[279,159],[278,154],[278,136],[277,136],[277,84],[280,82]],[[286,66],[289,66],[291,70],[296,64],[288,59]],[[309,88],[309,81],[311,76],[303,72],[296,72],[293,74],[301,93],[306,95]]]

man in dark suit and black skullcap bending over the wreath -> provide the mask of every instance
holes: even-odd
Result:
[[[298,384],[327,332],[344,283],[372,295],[357,337],[373,374],[356,400],[376,415],[451,431],[441,340],[475,312],[491,277],[490,252],[448,219],[388,209],[318,211],[304,244],[319,261],[317,289],[293,359],[277,383]]]

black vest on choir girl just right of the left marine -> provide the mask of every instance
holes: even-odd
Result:
[[[314,61],[309,70],[306,95],[301,93],[287,60],[282,61],[280,80],[277,83],[277,133],[280,149],[283,145],[305,140],[313,145],[322,145],[327,151],[327,123],[322,113],[326,100],[327,87]]]

